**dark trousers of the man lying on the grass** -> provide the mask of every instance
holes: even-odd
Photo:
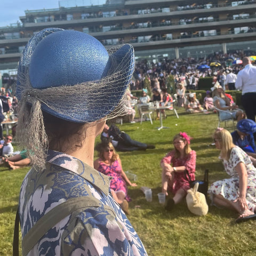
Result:
[[[147,144],[139,142],[137,140],[132,140],[131,137],[125,133],[121,133],[122,140],[118,140],[118,145],[116,150],[119,151],[133,151],[133,150],[145,150],[147,149]]]

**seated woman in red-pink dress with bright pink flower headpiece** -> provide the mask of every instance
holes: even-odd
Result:
[[[161,161],[162,167],[162,192],[174,194],[167,200],[165,209],[171,210],[187,195],[188,180],[184,171],[188,170],[191,180],[195,180],[196,151],[190,148],[190,137],[186,132],[180,132],[173,138],[174,149]]]

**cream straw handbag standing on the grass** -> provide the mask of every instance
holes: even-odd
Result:
[[[198,192],[199,183],[196,182],[194,188],[188,190],[186,201],[188,210],[199,216],[206,215],[208,212],[208,205],[206,203],[205,195]]]

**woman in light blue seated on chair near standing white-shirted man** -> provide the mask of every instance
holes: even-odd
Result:
[[[230,119],[230,117],[237,121],[246,118],[245,113],[237,109],[237,105],[231,105],[230,99],[225,95],[221,85],[218,82],[214,84],[211,90],[214,106],[218,109],[228,111],[228,113],[219,111],[220,121],[225,121]]]

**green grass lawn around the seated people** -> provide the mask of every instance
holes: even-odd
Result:
[[[186,115],[183,109],[178,112],[179,119],[173,111],[167,112],[167,119],[163,123],[170,128],[161,131],[156,129],[159,121],[154,121],[153,125],[150,122],[119,125],[132,139],[156,146],[146,151],[119,153],[124,171],[130,170],[138,177],[138,187],[129,188],[132,197],[129,220],[150,256],[254,255],[256,222],[236,225],[234,219],[237,213],[214,206],[209,206],[209,213],[205,217],[197,217],[189,212],[185,201],[172,212],[166,212],[158,203],[157,193],[161,191],[159,163],[173,148],[172,138],[180,131],[188,132],[193,137],[191,148],[197,153],[197,179],[203,178],[206,168],[209,169],[210,183],[227,177],[218,160],[219,151],[211,146],[212,133],[218,125],[217,115]],[[27,171],[28,168],[15,171],[0,168],[0,255],[12,254],[15,210],[20,185]],[[153,190],[153,202],[146,202],[141,186]]]

